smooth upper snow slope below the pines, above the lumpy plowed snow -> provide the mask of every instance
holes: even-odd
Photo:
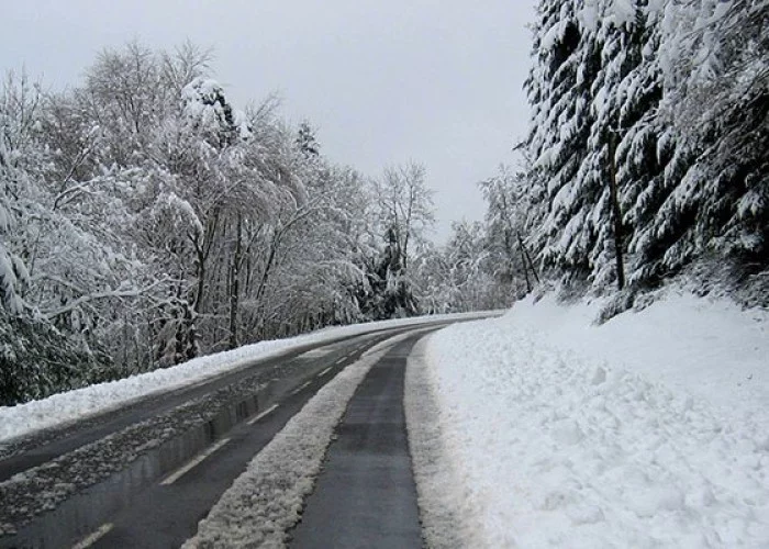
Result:
[[[668,290],[638,312],[597,327],[603,301],[565,307],[553,295],[515,304],[510,322],[539,332],[583,360],[661,379],[725,408],[735,419],[761,414],[769,425],[769,311]]]

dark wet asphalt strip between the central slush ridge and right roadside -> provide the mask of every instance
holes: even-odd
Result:
[[[419,337],[390,349],[353,395],[291,547],[423,546],[403,413],[405,359]]]

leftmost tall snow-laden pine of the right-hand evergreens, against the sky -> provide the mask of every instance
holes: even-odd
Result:
[[[586,278],[597,229],[587,217],[590,197],[577,192],[576,183],[594,120],[591,85],[600,69],[600,47],[580,25],[573,2],[543,0],[533,52],[535,64],[525,85],[533,108],[530,179],[545,190],[538,199],[547,203],[535,247],[545,266],[568,278]]]

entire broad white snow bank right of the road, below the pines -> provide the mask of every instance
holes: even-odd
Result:
[[[769,547],[769,314],[551,298],[432,336],[478,547]]]

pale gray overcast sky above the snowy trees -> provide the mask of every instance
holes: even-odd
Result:
[[[105,46],[213,47],[237,107],[277,91],[322,152],[369,176],[410,159],[435,190],[437,239],[484,212],[476,182],[514,163],[534,0],[3,2],[0,68],[77,83]]]

